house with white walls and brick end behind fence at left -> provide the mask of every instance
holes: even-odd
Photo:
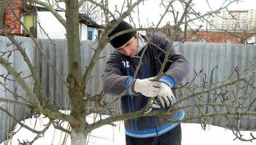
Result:
[[[21,17],[21,20],[34,37],[41,39],[48,39],[48,37],[51,39],[66,38],[66,29],[47,9],[41,6],[21,3],[20,0],[15,1],[18,3],[12,3],[13,7],[15,6],[15,13],[18,17]],[[65,12],[63,10],[55,10],[65,19]],[[79,19],[79,35],[81,40],[96,40],[102,35],[104,27],[98,25],[86,14],[79,14]],[[12,30],[12,35],[28,36],[24,27],[17,20],[14,20],[15,16],[11,10],[6,9],[4,24],[9,26],[9,30]]]

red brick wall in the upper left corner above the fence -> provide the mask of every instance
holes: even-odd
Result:
[[[21,9],[20,4],[23,3],[20,0],[15,0],[16,3],[14,3],[12,0],[9,0],[9,3],[11,3],[12,8],[15,11],[15,14],[17,14],[18,17],[21,15]],[[12,13],[11,8],[8,4],[6,4],[6,10],[5,15],[3,17],[3,23],[4,25],[8,26],[8,29],[14,34],[20,34],[20,23],[15,17],[15,15]]]

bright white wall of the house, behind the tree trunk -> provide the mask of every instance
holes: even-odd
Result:
[[[64,19],[65,12],[58,12]],[[51,12],[38,12],[38,19],[43,27],[44,31],[49,35],[51,39],[65,39],[66,29],[62,24],[52,15]],[[82,29],[82,31],[80,30]],[[37,25],[37,36],[41,39],[48,39],[47,35]],[[87,26],[79,23],[79,35],[81,40],[87,40]]]

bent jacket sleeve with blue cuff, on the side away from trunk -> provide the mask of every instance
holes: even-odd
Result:
[[[171,47],[170,41],[163,35],[154,34],[154,43],[166,52]],[[163,63],[165,54],[160,49],[157,51],[159,53],[160,61]],[[163,71],[165,75],[163,75],[159,81],[166,83],[172,88],[180,84],[180,82],[186,78],[190,69],[185,56],[178,53],[175,48],[170,52],[168,60],[169,61],[166,63]]]

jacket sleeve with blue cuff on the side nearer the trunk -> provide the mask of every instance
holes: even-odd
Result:
[[[119,96],[131,84],[132,77],[125,76],[122,73],[123,64],[121,60],[121,56],[117,55],[117,52],[113,52],[106,63],[102,82],[103,91],[109,95]],[[126,92],[127,94],[139,95],[139,93],[133,93],[131,87]]]

